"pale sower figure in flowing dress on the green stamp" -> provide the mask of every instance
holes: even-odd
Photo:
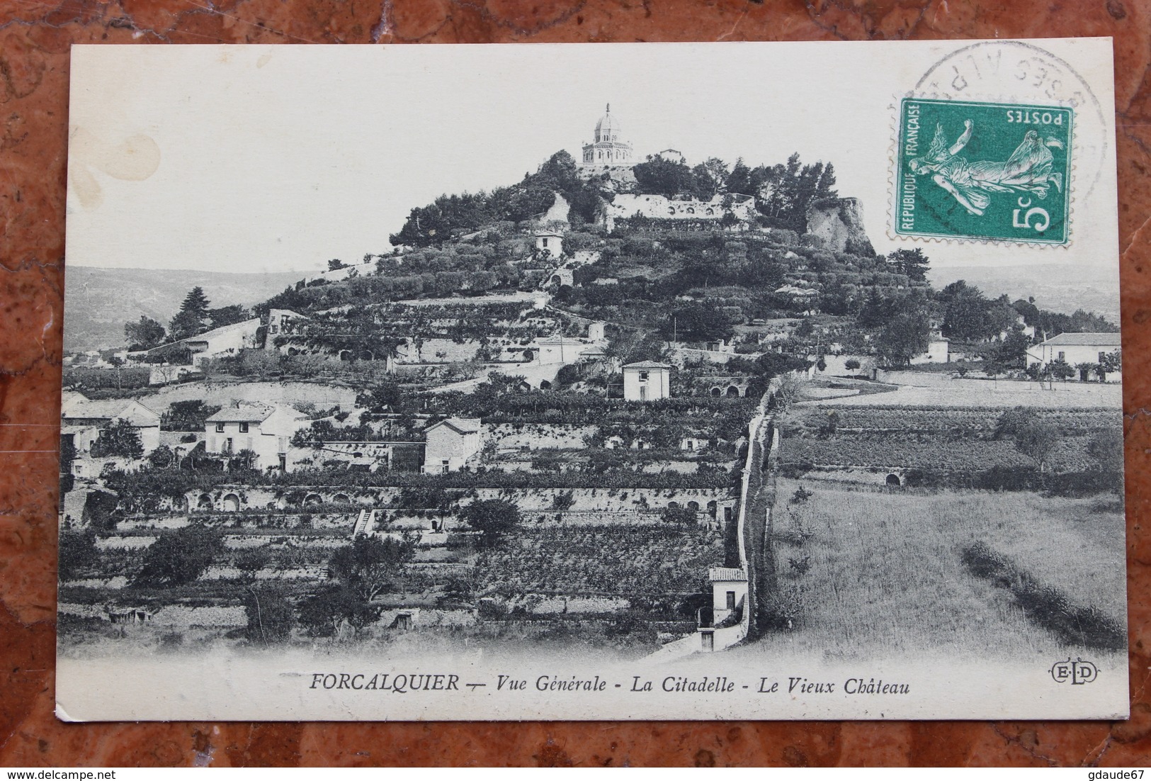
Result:
[[[936,126],[935,139],[923,157],[915,158],[909,166],[915,174],[932,174],[931,180],[947,190],[955,200],[976,217],[991,203],[990,192],[1032,192],[1039,198],[1047,197],[1047,187],[1062,191],[1064,175],[1052,173],[1054,158],[1049,146],[1064,147],[1058,138],[1041,138],[1035,130],[1028,130],[1023,141],[1005,162],[980,160],[968,162],[959,153],[971,139],[971,120],[963,120],[963,134],[951,146],[944,135],[943,124]]]

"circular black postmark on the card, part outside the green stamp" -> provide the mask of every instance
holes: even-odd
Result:
[[[1107,121],[1087,81],[1066,60],[1024,40],[981,40],[951,52],[915,83],[915,96],[1058,104],[1076,113],[1076,174],[1091,195],[1106,161]]]

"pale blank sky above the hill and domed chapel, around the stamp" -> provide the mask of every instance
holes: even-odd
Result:
[[[1110,106],[1102,40],[1038,43]],[[355,261],[387,251],[409,211],[441,194],[512,184],[561,149],[579,159],[610,103],[639,157],[832,162],[879,252],[1118,268],[1106,111],[1098,128],[1080,111],[1090,149],[1076,153],[1090,165],[1077,191],[1090,197],[1075,204],[1069,249],[889,236],[894,106],[924,74],[928,86],[954,79],[958,55],[940,60],[968,44],[77,46],[67,260],[221,272]],[[1017,78],[1001,70],[993,84]],[[1017,84],[1029,98],[1032,85]]]

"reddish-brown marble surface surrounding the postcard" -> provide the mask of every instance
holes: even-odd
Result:
[[[1043,36],[1115,39],[1129,721],[64,725],[53,716],[71,44]],[[0,765],[1149,764],[1151,534],[1143,526],[1151,517],[1149,60],[1148,0],[0,0]]]

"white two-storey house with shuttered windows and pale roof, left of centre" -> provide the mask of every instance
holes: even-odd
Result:
[[[221,455],[252,450],[257,469],[287,470],[291,438],[307,425],[307,416],[290,407],[242,402],[208,417],[204,446],[208,453]]]

